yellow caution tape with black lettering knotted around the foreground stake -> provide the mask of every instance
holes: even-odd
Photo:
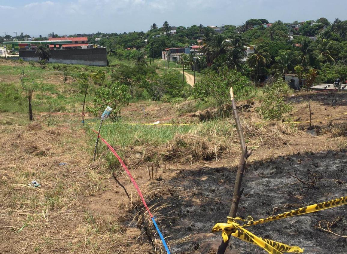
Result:
[[[325,210],[325,209],[329,209],[329,208],[333,208],[333,207],[345,205],[345,204],[347,204],[347,196],[335,198],[333,200],[325,201],[325,202],[314,204],[314,205],[305,206],[296,210],[280,213],[280,214],[270,216],[265,219],[260,219],[257,221],[253,221],[253,218],[249,217],[251,218],[251,221],[248,221],[248,223],[242,226],[236,222],[237,220],[242,220],[241,218],[237,217],[234,219],[234,218],[228,217],[227,223],[217,223],[212,228],[212,232],[222,231],[222,237],[224,242],[227,242],[227,240],[229,239],[229,236],[232,235],[236,238],[239,238],[240,240],[257,245],[263,248],[265,251],[267,251],[270,254],[302,253],[303,249],[301,249],[298,246],[289,246],[283,243],[275,242],[273,240],[257,237],[251,232],[249,232],[248,230],[244,229],[244,227],[258,225],[258,224],[262,224],[269,221],[280,220],[283,218],[288,218],[288,217],[292,217],[296,215],[317,212],[317,211],[321,211],[321,210]]]

